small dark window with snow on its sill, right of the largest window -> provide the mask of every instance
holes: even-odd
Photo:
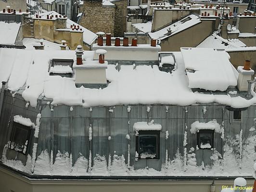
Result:
[[[214,130],[200,130],[197,132],[199,149],[211,149],[214,146]]]

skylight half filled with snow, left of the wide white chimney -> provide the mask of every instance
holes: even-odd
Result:
[[[50,63],[50,75],[72,77],[74,60],[52,59]]]

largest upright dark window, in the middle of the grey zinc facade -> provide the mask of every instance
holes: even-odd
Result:
[[[160,131],[139,131],[136,152],[139,159],[159,159]]]

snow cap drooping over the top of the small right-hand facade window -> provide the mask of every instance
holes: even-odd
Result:
[[[207,123],[200,123],[198,120],[193,122],[191,124],[191,130],[190,132],[192,134],[195,134],[196,132],[199,132],[199,130],[214,130],[215,132],[220,131],[220,125],[217,123],[217,120],[211,120]]]

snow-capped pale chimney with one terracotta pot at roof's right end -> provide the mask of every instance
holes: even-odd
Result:
[[[237,79],[237,88],[239,91],[247,91],[248,90],[248,81],[252,79],[252,75],[254,75],[254,70],[250,68],[250,60],[244,61],[244,66],[239,66],[237,71],[239,72]]]

